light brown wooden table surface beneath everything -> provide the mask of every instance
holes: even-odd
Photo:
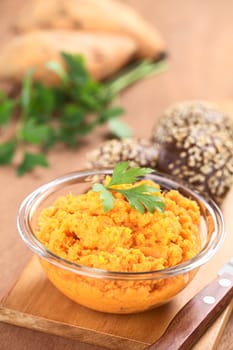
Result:
[[[1,0],[0,42],[6,39],[5,21],[14,21],[23,0]],[[128,89],[121,97],[125,121],[134,134],[148,137],[156,119],[171,103],[185,99],[233,100],[233,2],[231,0],[127,0],[163,33],[170,55],[169,71]],[[31,253],[18,237],[15,217],[22,199],[35,187],[84,166],[86,152],[101,140],[95,132],[77,151],[54,150],[49,169],[17,178],[15,169],[0,169],[0,297],[14,283]],[[0,324],[1,350],[88,350],[89,345]],[[233,316],[218,350],[231,350]],[[98,349],[96,347],[96,349]]]

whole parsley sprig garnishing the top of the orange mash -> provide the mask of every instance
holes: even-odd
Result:
[[[160,192],[158,188],[144,183],[130,188],[117,187],[122,184],[133,184],[138,181],[141,176],[152,172],[153,169],[150,168],[129,168],[128,161],[121,162],[115,166],[111,180],[108,183],[105,185],[96,183],[92,186],[92,189],[94,192],[100,193],[100,199],[105,212],[114,207],[115,198],[112,192],[118,192],[123,194],[130,206],[141,214],[145,212],[145,209],[150,213],[153,213],[155,209],[162,213],[165,205],[163,199],[156,194]]]

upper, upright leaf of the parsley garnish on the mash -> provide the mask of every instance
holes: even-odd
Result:
[[[140,176],[152,173],[154,170],[150,168],[132,167],[129,168],[129,162],[118,163],[113,171],[112,178],[108,186],[120,184],[132,184],[136,182]]]

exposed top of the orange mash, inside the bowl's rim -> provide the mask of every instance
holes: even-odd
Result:
[[[144,180],[158,187],[150,180]],[[59,197],[39,217],[38,239],[55,254],[110,271],[148,271],[177,265],[200,250],[200,213],[195,201],[171,190],[164,213],[140,214],[115,193],[105,213],[99,193]]]

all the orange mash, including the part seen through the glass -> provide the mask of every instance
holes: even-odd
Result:
[[[143,181],[158,187],[152,181]],[[160,194],[165,211],[140,214],[115,193],[114,208],[103,211],[99,193],[68,194],[44,209],[39,240],[53,253],[89,267],[110,271],[151,271],[179,264],[198,253],[199,208],[177,191]],[[148,280],[92,278],[40,259],[50,281],[73,301],[110,313],[133,313],[169,301],[194,277]]]

